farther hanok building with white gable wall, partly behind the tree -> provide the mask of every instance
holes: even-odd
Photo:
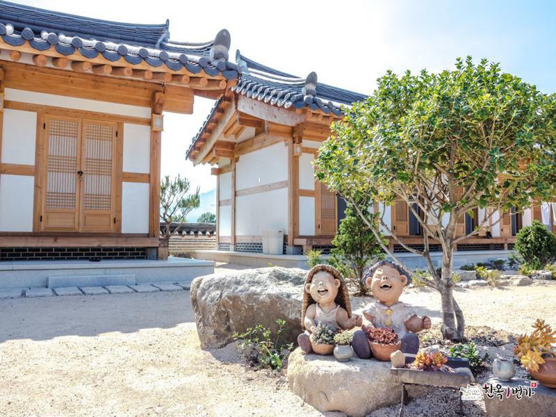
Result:
[[[261,252],[263,231],[278,229],[285,234],[284,254],[311,248],[326,252],[345,202],[315,178],[312,162],[329,136],[330,124],[341,119],[341,105],[366,96],[318,83],[315,73],[298,78],[240,54],[236,64],[238,84],[217,101],[188,150],[193,163],[217,165],[212,172],[218,179],[218,250]],[[403,200],[377,208],[405,244],[423,245],[420,224]],[[466,258],[475,255],[475,260],[506,256],[521,227],[533,219],[553,227],[553,213],[550,204],[519,214],[502,213],[501,222],[500,213],[494,213],[489,224],[481,225],[480,234],[462,240],[457,250]],[[462,217],[459,235],[473,231],[483,216],[478,210]],[[407,252],[389,238],[393,252]],[[439,250],[436,244],[432,240],[432,251]],[[206,251],[199,255],[231,259]]]

